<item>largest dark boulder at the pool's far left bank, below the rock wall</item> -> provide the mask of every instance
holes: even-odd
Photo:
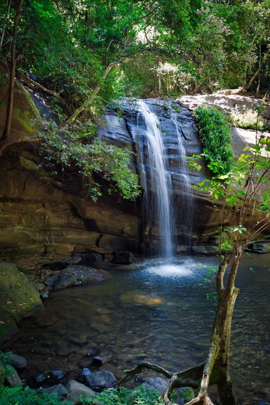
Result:
[[[71,286],[89,284],[93,281],[103,281],[104,278],[104,274],[97,269],[88,266],[73,265],[68,266],[65,270],[60,272],[54,288],[55,290],[62,290],[63,288]]]

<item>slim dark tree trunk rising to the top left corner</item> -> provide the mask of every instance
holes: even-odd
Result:
[[[16,37],[18,33],[20,13],[22,11],[22,3],[23,0],[19,0],[13,24],[13,38],[11,44],[11,74],[8,88],[8,107],[6,109],[6,124],[4,128],[4,133],[1,137],[2,141],[6,140],[8,138],[9,133],[11,132],[11,117],[13,112],[13,95],[14,95],[15,67],[16,67]]]

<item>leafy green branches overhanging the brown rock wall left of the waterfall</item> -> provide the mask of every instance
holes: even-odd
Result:
[[[116,190],[124,199],[136,199],[140,195],[140,185],[137,175],[129,167],[130,152],[94,138],[94,133],[91,123],[72,126],[61,133],[52,128],[41,144],[43,166],[53,175],[65,168],[75,168],[93,201],[101,196],[95,173],[109,182],[109,191]]]

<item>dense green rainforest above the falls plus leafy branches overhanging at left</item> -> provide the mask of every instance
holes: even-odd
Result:
[[[269,0],[6,0],[0,15],[1,55],[16,77],[52,95],[58,114],[41,149],[47,167],[74,166],[93,199],[93,172],[124,198],[140,194],[128,155],[94,140],[112,100],[236,87],[259,95],[269,84]],[[1,153],[7,131],[8,120]]]

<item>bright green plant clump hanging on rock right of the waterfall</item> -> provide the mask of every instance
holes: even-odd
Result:
[[[208,168],[212,173],[220,175],[227,173],[231,168],[234,153],[231,148],[231,131],[226,118],[215,107],[197,107],[194,114]]]

